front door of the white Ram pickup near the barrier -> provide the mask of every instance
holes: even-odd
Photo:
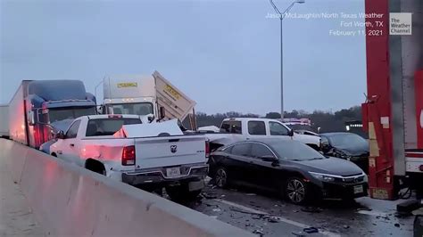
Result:
[[[80,125],[80,120],[76,120],[71,124],[68,131],[64,135],[64,139],[62,139],[62,143],[60,144],[60,149],[58,149],[57,156],[62,158],[68,162],[75,163],[77,158],[79,157],[79,151],[76,147],[77,144],[77,135]]]

